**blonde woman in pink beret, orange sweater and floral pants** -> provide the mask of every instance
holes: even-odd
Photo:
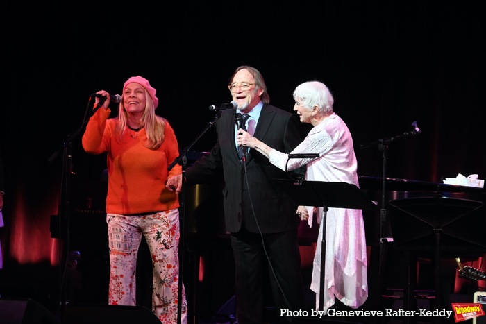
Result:
[[[118,116],[110,115],[110,94],[97,92],[97,109],[87,123],[83,148],[107,153],[106,222],[110,248],[110,305],[136,305],[137,253],[142,236],[153,266],[152,310],[164,324],[187,323],[187,302],[179,287],[179,201],[181,187],[167,185],[180,176],[181,165],[168,166],[179,155],[174,129],[157,116],[156,89],[146,78],[126,80]],[[101,105],[101,106],[99,106]],[[182,282],[181,282],[182,284]]]

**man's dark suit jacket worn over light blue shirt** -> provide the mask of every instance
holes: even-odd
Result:
[[[289,175],[255,150],[250,150],[245,175],[235,145],[235,114],[236,110],[221,111],[221,117],[215,123],[217,142],[208,155],[187,168],[186,184],[214,182],[221,171],[224,173],[223,205],[228,232],[238,232],[242,223],[247,230],[255,233],[260,230],[263,233],[294,230],[299,225],[296,203],[272,181],[289,178]],[[296,115],[272,105],[263,105],[254,135],[285,153],[301,142]],[[305,169],[299,169],[297,173],[303,176]]]

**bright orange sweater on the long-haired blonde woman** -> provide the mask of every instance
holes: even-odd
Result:
[[[82,139],[87,153],[108,153],[106,212],[128,215],[178,208],[178,196],[165,187],[169,176],[182,173],[179,164],[167,170],[179,155],[174,129],[165,122],[164,142],[154,151],[144,146],[144,128],[135,138],[127,131],[120,141],[115,135],[117,119],[108,119],[109,115],[110,109],[97,110]]]

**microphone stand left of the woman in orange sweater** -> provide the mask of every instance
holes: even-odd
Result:
[[[100,101],[101,104],[103,104]],[[67,268],[67,253],[69,253],[69,244],[70,244],[70,237],[69,237],[69,222],[70,222],[70,196],[71,196],[71,176],[73,176],[74,170],[72,167],[72,141],[75,139],[79,133],[81,133],[81,130],[83,127],[86,125],[87,121],[90,120],[90,117],[99,109],[101,108],[101,105],[97,105],[94,107],[92,110],[91,114],[89,117],[83,120],[83,123],[81,123],[81,126],[76,130],[76,132],[67,135],[67,138],[65,139],[64,142],[62,142],[59,145],[59,148],[57,151],[52,153],[51,157],[47,160],[47,162],[51,163],[54,160],[56,160],[56,157],[58,157],[59,153],[62,151],[62,183],[61,183],[61,188],[60,188],[60,200],[62,203],[60,203],[59,207],[59,215],[57,216],[57,221],[58,221],[58,230],[59,230],[59,239],[65,239],[65,244],[62,244],[62,241],[60,243],[60,260],[59,260],[59,273],[60,273],[60,282],[59,282],[59,296],[58,296],[58,302],[56,304],[61,307],[60,310],[62,310],[62,307],[65,306],[66,304],[66,296],[65,296],[65,271]],[[53,230],[53,225],[51,225],[51,237],[53,236],[52,233]],[[61,312],[59,312],[60,316]]]

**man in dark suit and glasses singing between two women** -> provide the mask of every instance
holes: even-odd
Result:
[[[298,311],[303,305],[300,219],[296,203],[273,182],[289,174],[256,151],[239,156],[242,148],[235,142],[239,129],[235,121],[246,121],[249,132],[286,153],[301,142],[301,133],[294,114],[269,105],[267,87],[257,69],[238,67],[230,80],[228,88],[237,110],[220,111],[215,124],[217,142],[208,155],[187,168],[186,184],[214,181],[222,171],[224,219],[235,259],[238,323],[263,323],[267,278],[277,309]],[[249,114],[249,119],[242,114]],[[298,173],[303,175],[305,170]]]

